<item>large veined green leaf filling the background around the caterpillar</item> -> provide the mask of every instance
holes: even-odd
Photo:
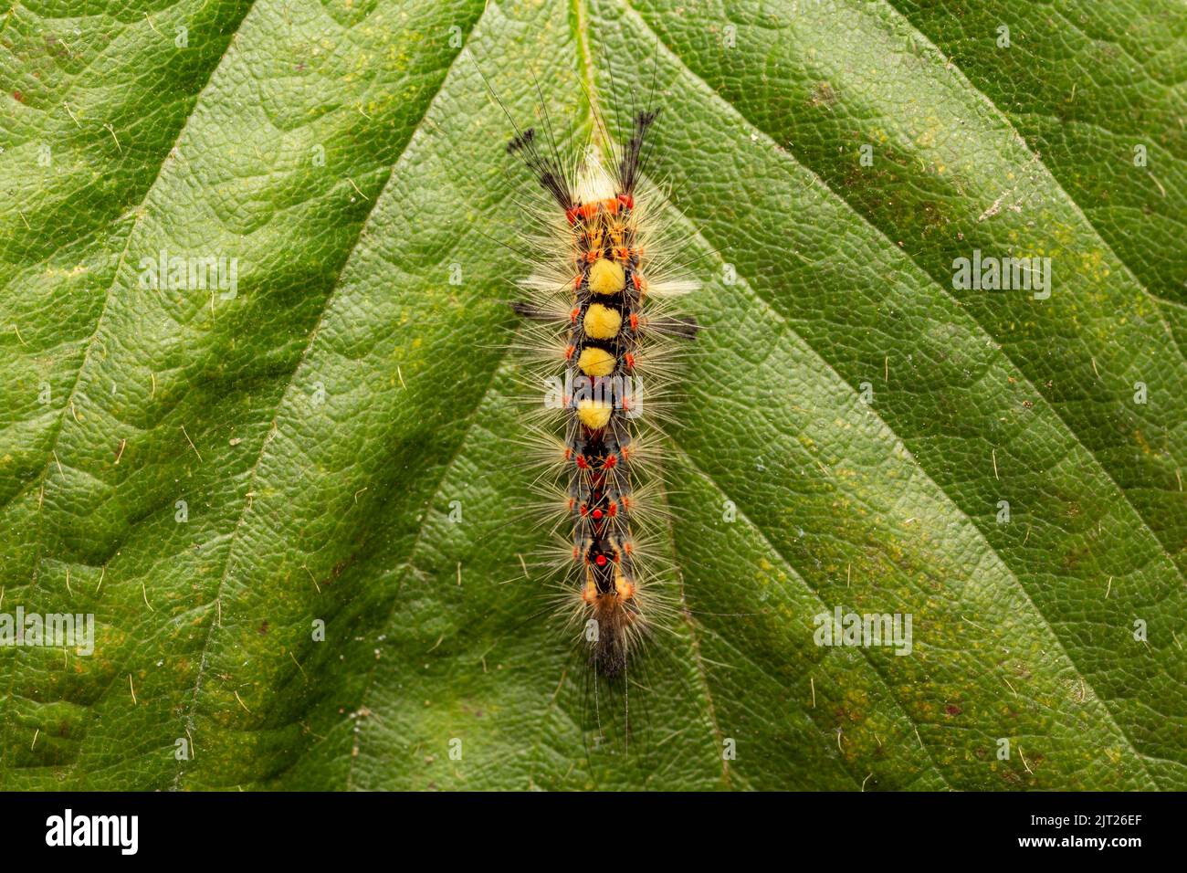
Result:
[[[0,787],[1187,787],[1180,4],[59,14],[0,23],[0,613],[95,651],[0,649]],[[520,563],[531,181],[470,53],[569,148],[662,106],[705,330],[629,755]]]

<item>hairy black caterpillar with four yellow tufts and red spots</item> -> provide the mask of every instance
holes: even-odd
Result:
[[[698,330],[673,311],[696,283],[660,217],[665,194],[646,177],[660,112],[633,112],[618,146],[590,96],[595,137],[565,162],[542,95],[540,129],[520,129],[491,95],[515,132],[507,151],[537,183],[525,247],[534,268],[518,281],[529,299],[512,306],[537,365],[528,381],[548,386],[534,419],[548,495],[541,508],[554,533],[570,527],[548,562],[563,577],[557,608],[579,632],[595,683],[626,689],[634,654],[673,609],[652,584],[648,553],[650,519],[665,512],[655,504],[658,420],[678,378],[678,346]]]

